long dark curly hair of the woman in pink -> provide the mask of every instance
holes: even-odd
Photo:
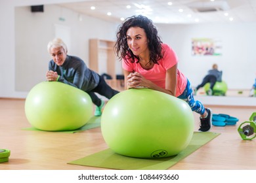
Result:
[[[148,49],[150,50],[150,61],[158,64],[158,60],[163,58],[161,54],[161,39],[158,36],[158,30],[153,25],[152,20],[148,19],[146,16],[131,16],[123,22],[122,25],[119,25],[119,31],[117,32],[117,41],[115,44],[115,52],[119,59],[131,59],[132,63],[135,62],[135,59],[139,62],[139,56],[135,56],[133,52],[129,49],[127,44],[127,30],[130,27],[140,27],[144,29],[146,37],[148,39]]]

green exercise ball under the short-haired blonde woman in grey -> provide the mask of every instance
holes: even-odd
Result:
[[[28,93],[25,113],[30,124],[44,131],[70,131],[93,114],[91,97],[62,82],[41,82]]]

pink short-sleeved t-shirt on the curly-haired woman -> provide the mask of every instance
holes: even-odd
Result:
[[[160,59],[159,64],[154,64],[154,67],[150,70],[145,70],[140,66],[140,63],[131,63],[131,61],[125,61],[123,59],[123,69],[129,72],[138,72],[146,79],[151,80],[154,84],[165,89],[165,75],[167,69],[170,69],[178,63],[178,58],[175,52],[167,44],[162,44],[163,59]],[[186,88],[187,79],[179,69],[177,69],[177,87],[176,97],[182,94]]]

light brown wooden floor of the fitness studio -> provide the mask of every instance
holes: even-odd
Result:
[[[0,169],[99,169],[67,163],[108,148],[102,139],[100,127],[79,133],[23,130],[24,127],[31,127],[25,116],[24,102],[23,99],[0,99],[0,149],[11,150],[9,161],[0,163]],[[208,107],[213,110],[213,113],[229,114],[239,118],[240,121],[234,126],[213,126],[211,131],[221,133],[221,135],[170,169],[256,169],[256,139],[244,141],[237,131],[240,123],[248,121],[252,112],[256,112],[256,107]],[[198,114],[194,113],[194,118],[195,131],[198,131]]]

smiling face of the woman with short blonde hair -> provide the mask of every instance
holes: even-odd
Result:
[[[58,66],[61,66],[67,58],[67,53],[62,47],[51,48],[50,54],[53,58],[54,63],[56,63],[56,65]]]

